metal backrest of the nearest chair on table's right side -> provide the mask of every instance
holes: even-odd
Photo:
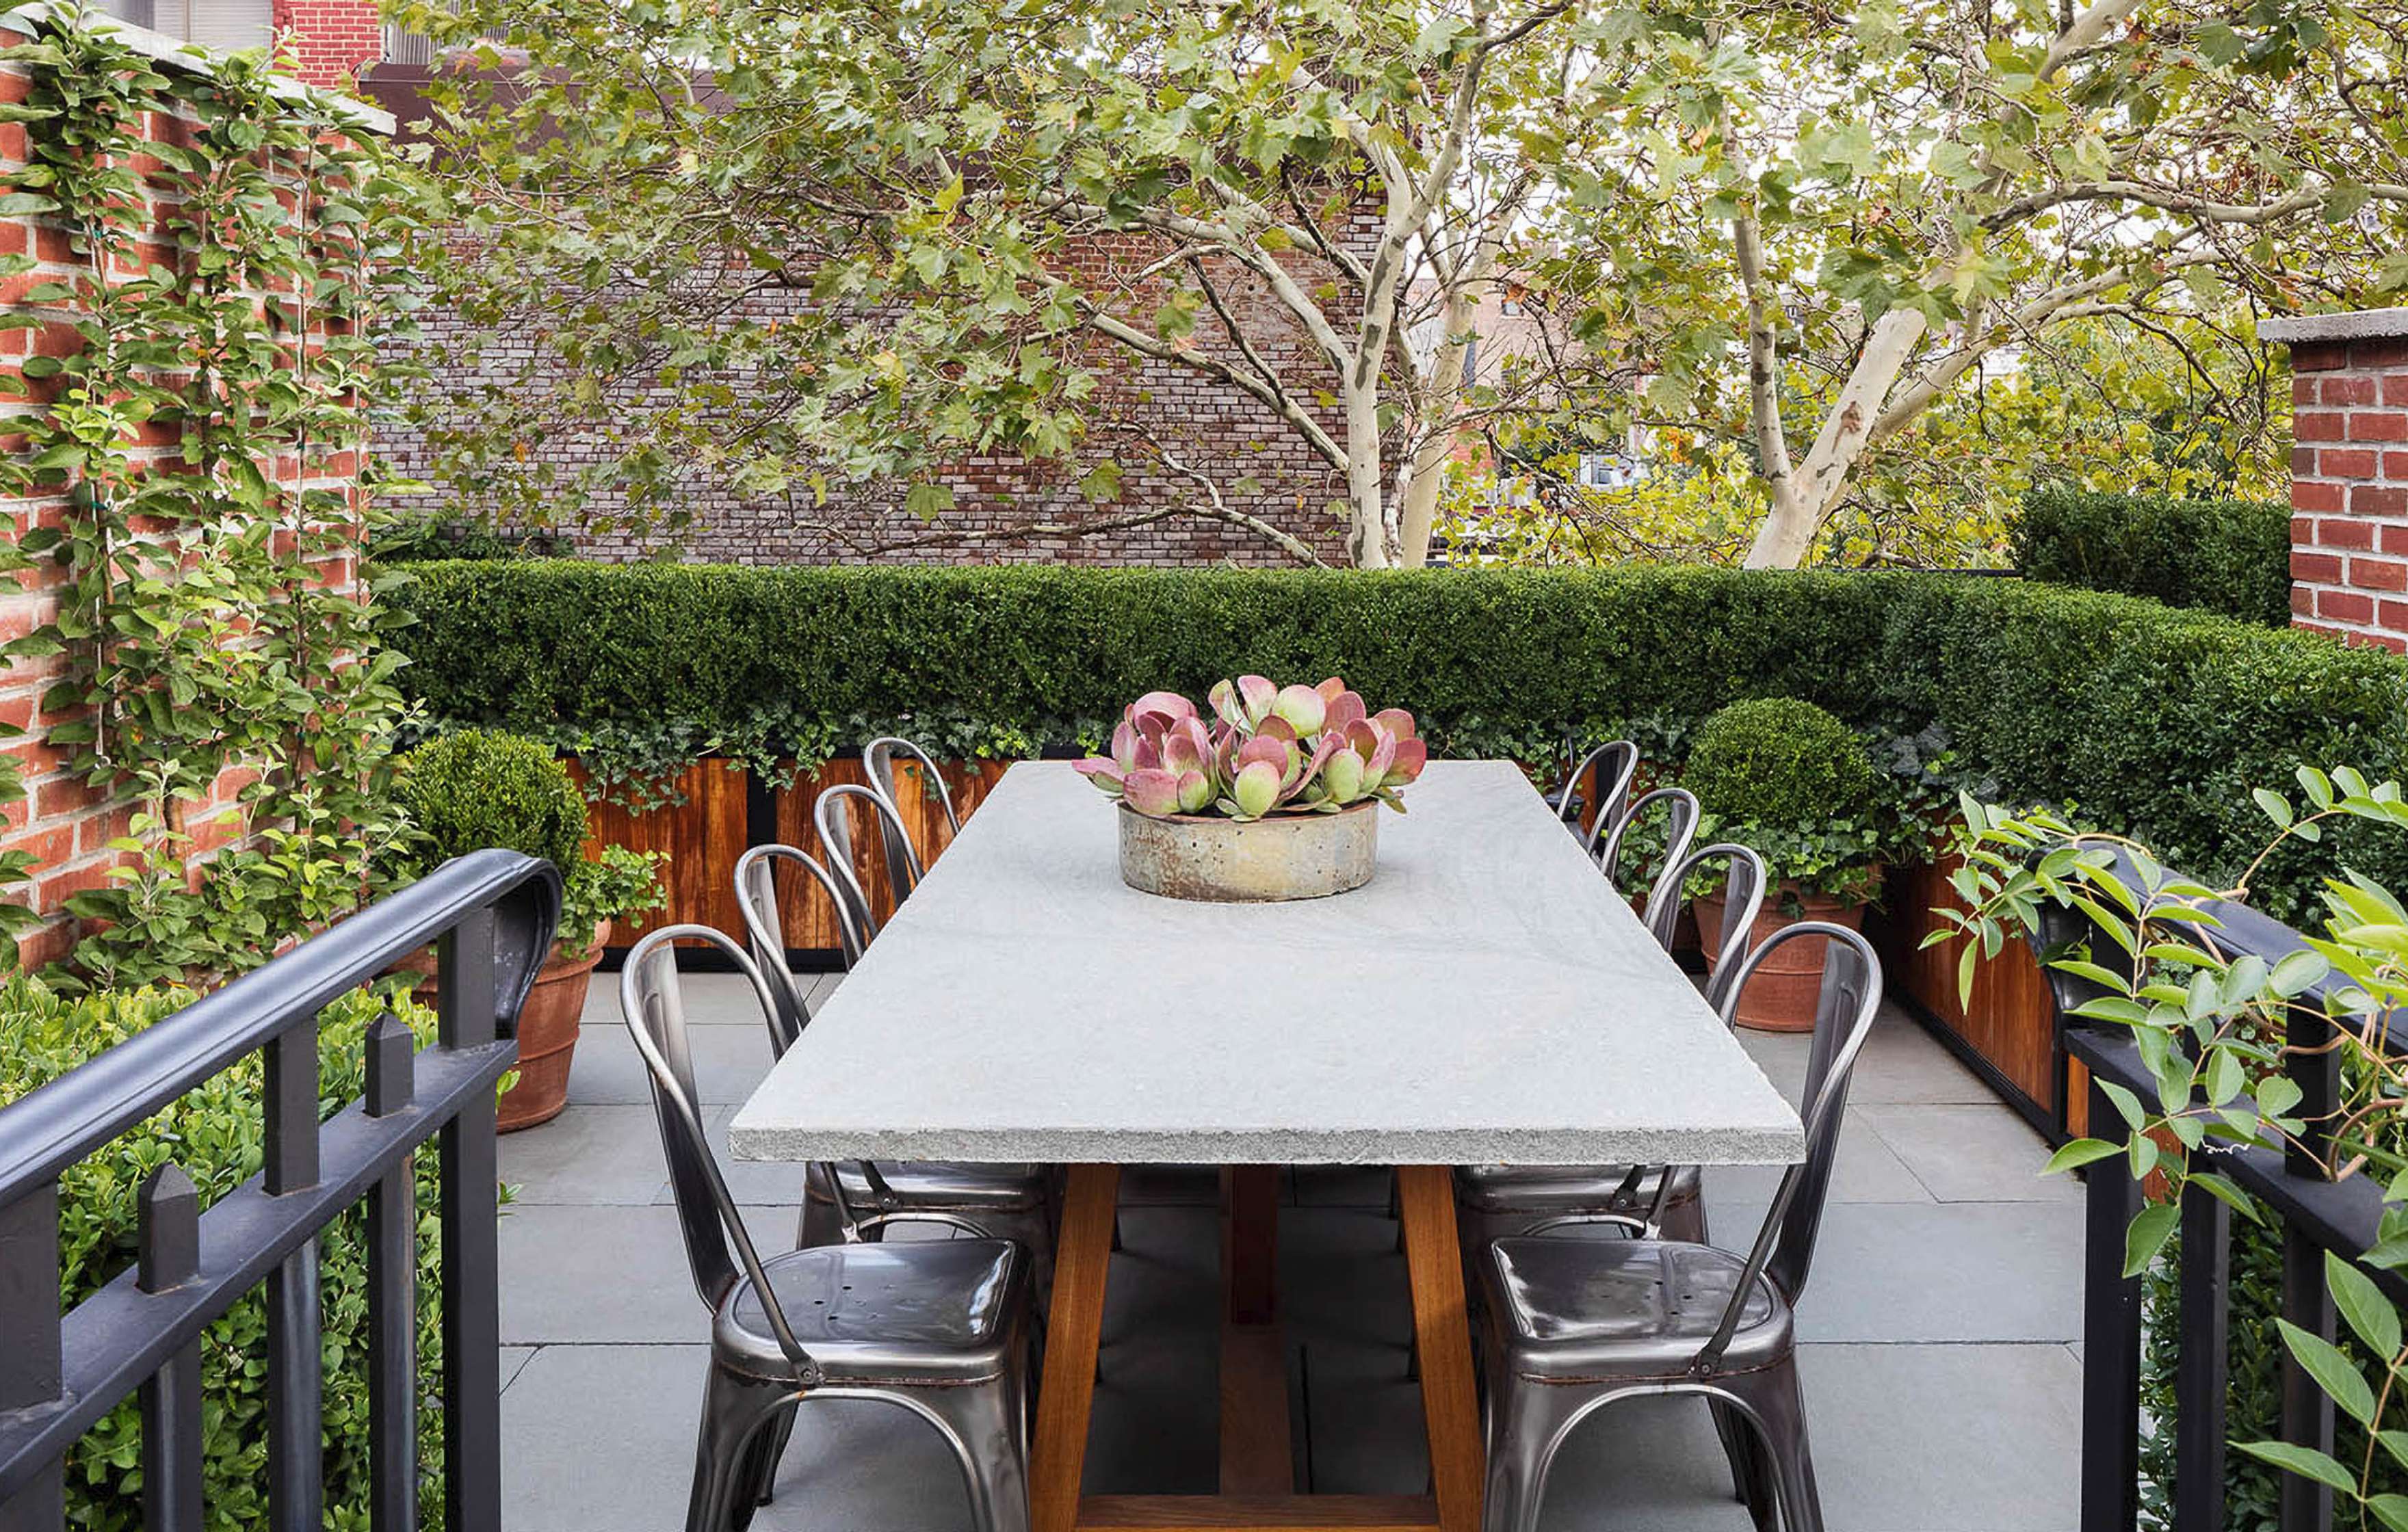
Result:
[[[1746,992],[1748,980],[1765,966],[1765,959],[1789,942],[1808,937],[1825,937],[1828,947],[1823,949],[1823,995],[1816,1004],[1813,1048],[1806,1055],[1806,1089],[1799,1096],[1806,1120],[1806,1159],[1789,1166],[1789,1173],[1782,1175],[1782,1185],[1772,1195],[1772,1207],[1765,1209],[1765,1224],[1755,1231],[1746,1277],[1731,1291],[1731,1306],[1722,1313],[1714,1339],[1698,1354],[1700,1366],[1712,1366],[1724,1347],[1731,1344],[1758,1277],[1772,1277],[1772,1284],[1792,1303],[1806,1291],[1816,1236],[1823,1231],[1830,1166],[1840,1154],[1847,1082],[1857,1070],[1857,1055],[1864,1053],[1866,1038],[1873,1036],[1873,1017],[1881,1012],[1881,959],[1873,956],[1873,944],[1845,925],[1799,920],[1765,937],[1741,961],[1739,980],[1724,1002],[1724,1021],[1734,1019],[1739,997]]]

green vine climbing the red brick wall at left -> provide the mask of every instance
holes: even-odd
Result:
[[[70,968],[212,978],[356,906],[397,833],[400,655],[356,549],[409,183],[253,55],[157,63],[60,12],[0,63],[29,137],[0,207],[65,236],[0,263],[29,284],[0,325],[36,335],[0,491],[67,499],[7,554],[63,581],[10,658],[55,658],[51,744],[130,805]]]

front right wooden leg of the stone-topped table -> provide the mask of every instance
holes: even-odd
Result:
[[[1488,1462],[1479,1390],[1471,1383],[1454,1171],[1397,1166],[1397,1212],[1404,1221],[1404,1269],[1413,1284],[1413,1339],[1421,1344],[1421,1412],[1430,1431],[1438,1525],[1445,1532],[1479,1532]]]

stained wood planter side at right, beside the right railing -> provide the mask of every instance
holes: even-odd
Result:
[[[1953,867],[1953,862],[1890,867],[1888,908],[1876,923],[1888,983],[1965,1038],[2032,1103],[2054,1113],[2056,1007],[2032,949],[2008,942],[1999,956],[1977,959],[1972,1000],[1965,1002],[1958,997],[1958,959],[1965,939],[1950,935],[1924,947],[1929,932],[1946,930],[1934,908],[1965,908],[1948,886]]]

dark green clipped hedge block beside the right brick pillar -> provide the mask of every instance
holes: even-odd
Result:
[[[2049,484],[2023,496],[2013,547],[2028,581],[2290,626],[2290,506]]]

